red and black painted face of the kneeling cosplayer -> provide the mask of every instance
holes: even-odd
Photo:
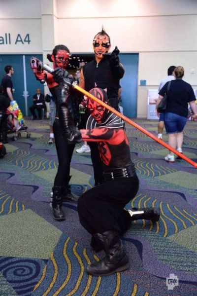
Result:
[[[103,89],[96,87],[91,89],[89,93],[95,96],[96,98],[98,98],[100,101],[107,104],[108,102],[107,95]],[[108,113],[108,110],[105,107],[99,105],[97,102],[95,102],[92,99],[88,100],[87,107],[91,112],[91,115],[95,118],[95,120],[98,123],[102,123],[105,121]]]

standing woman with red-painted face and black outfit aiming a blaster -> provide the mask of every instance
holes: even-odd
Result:
[[[52,55],[48,54],[47,58],[53,62],[54,69],[57,68],[53,75],[45,73],[35,74],[40,81],[46,81],[49,90],[56,101],[56,119],[53,124],[55,145],[58,154],[58,172],[56,174],[53,186],[52,209],[53,217],[56,220],[65,220],[65,214],[62,209],[63,201],[76,201],[69,189],[70,180],[70,161],[74,150],[75,143],[81,141],[81,135],[76,129],[74,118],[74,94],[68,90],[68,85],[73,81],[65,69],[69,63],[70,52],[65,45],[56,45]],[[61,68],[61,69],[60,69]],[[59,81],[60,72],[61,81]]]

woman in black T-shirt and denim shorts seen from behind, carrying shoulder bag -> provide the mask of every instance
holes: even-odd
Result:
[[[176,67],[174,69],[174,74],[176,79],[171,81],[167,95],[164,125],[166,133],[168,134],[168,144],[182,153],[183,129],[187,122],[188,103],[194,112],[194,118],[197,116],[197,106],[195,104],[196,97],[192,86],[182,80],[184,68],[181,66]],[[159,92],[157,106],[164,97],[168,83],[169,82],[165,83]],[[164,159],[169,162],[174,162],[174,153],[169,151],[169,154],[167,154]],[[179,157],[177,157],[177,159],[179,159]]]

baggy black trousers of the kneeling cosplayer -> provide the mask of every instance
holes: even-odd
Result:
[[[114,230],[122,234],[128,229],[125,205],[136,195],[137,178],[107,181],[79,197],[78,214],[83,227],[92,235]]]

